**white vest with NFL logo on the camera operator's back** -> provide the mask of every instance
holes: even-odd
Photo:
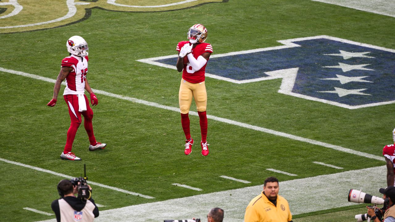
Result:
[[[90,200],[87,200],[82,211],[74,210],[64,199],[59,199],[58,202],[61,222],[92,222],[95,218],[95,205]]]

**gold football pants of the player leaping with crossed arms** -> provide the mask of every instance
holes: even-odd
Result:
[[[192,103],[192,96],[195,99],[196,108],[198,111],[206,111],[207,92],[204,81],[201,83],[190,83],[181,78],[180,91],[178,93],[178,102],[180,104],[181,113],[189,113]]]

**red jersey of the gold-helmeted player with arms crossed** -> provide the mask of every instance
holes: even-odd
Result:
[[[186,43],[189,43],[189,41],[180,41],[177,44],[177,51],[181,50],[181,47],[184,46]],[[203,53],[213,53],[213,47],[209,43],[199,43],[196,44],[196,47],[192,48],[192,55],[194,58],[198,59],[199,56],[201,56]],[[208,60],[207,60],[208,61]],[[205,70],[206,70],[207,62],[206,64],[198,71],[193,71],[192,66],[189,65],[188,57],[184,57],[184,69],[182,70],[182,79],[185,79],[186,81],[190,83],[201,83],[205,80]]]

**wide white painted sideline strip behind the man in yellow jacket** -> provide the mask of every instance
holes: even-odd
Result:
[[[387,168],[384,165],[292,181],[280,181],[279,194],[288,200],[293,215],[357,205],[357,203],[347,201],[348,191],[350,189],[362,190],[381,197],[382,194],[378,192],[378,189],[387,184],[386,172]],[[377,175],[383,176],[377,177]],[[366,182],[361,178],[375,179]],[[186,219],[192,216],[204,218],[213,207],[224,209],[226,214],[224,222],[243,222],[246,206],[262,190],[263,184],[103,210],[100,211],[100,216],[95,218],[95,222],[96,220],[97,222],[147,222]],[[366,211],[361,209],[361,213],[366,213]],[[354,215],[350,215],[350,218],[351,216],[354,218]],[[41,222],[56,222],[56,219]]]

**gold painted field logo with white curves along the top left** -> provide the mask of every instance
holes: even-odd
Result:
[[[228,0],[0,0],[0,33],[54,28],[87,19],[92,8],[152,12]],[[43,16],[45,15],[45,16]]]

